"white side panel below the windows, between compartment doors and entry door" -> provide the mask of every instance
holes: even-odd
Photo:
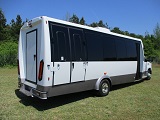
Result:
[[[136,61],[88,62],[85,78],[86,80],[98,79],[99,76],[103,76],[104,73],[107,73],[110,77],[134,74],[137,70],[136,65]]]

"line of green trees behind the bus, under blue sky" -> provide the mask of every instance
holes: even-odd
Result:
[[[160,63],[160,26],[158,23],[154,29],[154,34],[146,32],[145,36],[143,36],[129,33],[128,31],[122,31],[119,27],[111,29],[108,24],[104,23],[102,20],[87,24],[84,17],[78,18],[75,14],[71,17],[67,15],[65,20],[90,27],[105,27],[110,29],[111,32],[140,38],[144,44],[145,56]],[[2,9],[0,9],[0,67],[17,64],[19,32],[20,28],[27,21],[28,19],[23,21],[21,16],[17,15],[16,19],[12,19],[10,23],[7,24],[7,19]]]

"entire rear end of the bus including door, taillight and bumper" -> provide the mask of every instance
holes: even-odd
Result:
[[[47,98],[46,92],[38,91],[44,84],[44,24],[38,17],[25,23],[20,30],[18,48],[18,86],[27,96]]]

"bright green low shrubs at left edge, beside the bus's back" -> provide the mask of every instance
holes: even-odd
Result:
[[[0,43],[0,67],[17,64],[18,44],[13,41]]]

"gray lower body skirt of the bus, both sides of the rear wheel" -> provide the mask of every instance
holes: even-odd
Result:
[[[120,75],[111,77],[111,84],[118,85],[123,83],[135,82],[136,74]],[[69,84],[55,85],[55,86],[40,86],[37,85],[36,89],[30,88],[24,85],[24,90],[32,93],[33,96],[41,99],[47,99],[48,97],[64,95],[74,92],[81,92],[87,90],[94,90],[97,79],[86,80],[82,82],[75,82]],[[25,92],[23,92],[25,93]]]

